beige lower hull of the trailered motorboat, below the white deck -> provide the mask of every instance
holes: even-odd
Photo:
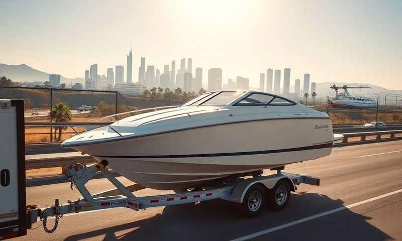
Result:
[[[133,182],[170,190],[330,155],[329,118],[278,118],[73,147]]]

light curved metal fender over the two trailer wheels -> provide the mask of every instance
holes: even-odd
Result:
[[[259,183],[259,184],[263,185],[264,187],[271,189],[281,179],[286,179],[289,182],[291,191],[295,190],[292,180],[287,176],[284,176],[284,175],[259,176],[256,178],[249,178],[249,179],[240,181],[236,185],[236,187],[233,189],[232,194],[222,197],[222,199],[232,201],[232,202],[242,203],[243,199],[244,199],[244,195],[246,194],[247,190],[252,185]]]

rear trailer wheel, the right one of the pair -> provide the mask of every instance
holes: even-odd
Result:
[[[274,211],[287,206],[290,198],[290,185],[285,179],[279,180],[267,195],[268,208]]]

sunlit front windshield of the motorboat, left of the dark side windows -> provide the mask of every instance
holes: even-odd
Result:
[[[237,97],[243,95],[245,91],[221,91],[202,94],[184,105],[226,105]]]

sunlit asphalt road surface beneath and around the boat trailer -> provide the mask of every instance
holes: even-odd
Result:
[[[284,210],[252,219],[239,217],[236,205],[224,200],[138,212],[116,208],[64,216],[52,234],[39,226],[15,240],[402,240],[402,141],[334,148],[329,157],[285,171],[318,176],[321,186],[299,185]],[[86,186],[92,192],[113,187],[105,179]],[[164,193],[170,191],[136,195]],[[27,188],[27,204],[40,207],[78,197],[66,183]]]

